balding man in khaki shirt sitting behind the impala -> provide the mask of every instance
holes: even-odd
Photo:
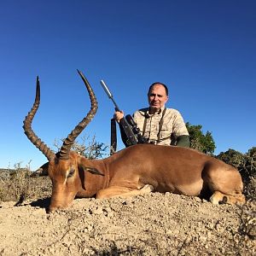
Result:
[[[149,108],[142,108],[133,114],[137,127],[148,143],[158,145],[176,145],[189,148],[189,132],[182,115],[173,108],[166,108],[168,101],[168,88],[165,84],[156,82],[148,89]],[[115,119],[124,118],[123,112],[115,112]],[[122,140],[127,138],[120,126]],[[125,143],[125,146],[126,143]]]

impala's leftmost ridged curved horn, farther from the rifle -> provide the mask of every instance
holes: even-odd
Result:
[[[40,83],[37,77],[37,91],[36,98],[33,107],[29,113],[27,113],[26,118],[23,121],[23,129],[26,137],[47,157],[48,160],[52,160],[55,157],[53,151],[51,151],[48,146],[37,137],[37,135],[32,131],[32,120],[38,111],[40,105]]]

